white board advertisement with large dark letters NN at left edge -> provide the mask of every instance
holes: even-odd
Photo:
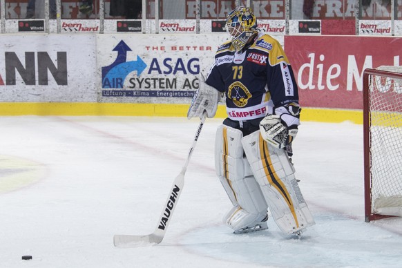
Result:
[[[96,102],[95,36],[0,38],[1,102]]]

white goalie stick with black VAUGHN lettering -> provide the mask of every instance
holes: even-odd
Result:
[[[156,225],[155,231],[144,236],[135,235],[115,235],[113,242],[115,247],[136,247],[138,244],[159,244],[162,242],[166,229],[169,222],[173,216],[173,211],[178,204],[180,194],[182,193],[184,186],[184,174],[186,173],[187,166],[189,165],[191,155],[193,154],[195,144],[197,144],[198,137],[200,136],[202,126],[204,126],[205,119],[207,118],[207,112],[204,111],[201,117],[200,124],[198,125],[197,132],[195,133],[193,144],[191,145],[189,155],[187,156],[186,163],[184,164],[182,171],[176,176],[173,181],[173,186],[169,192],[169,197],[167,198],[164,209],[160,213],[159,221]]]

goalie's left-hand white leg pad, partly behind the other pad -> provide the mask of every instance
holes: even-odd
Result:
[[[227,192],[233,207],[224,216],[224,222],[238,231],[255,227],[267,216],[267,202],[249,162],[243,156],[242,132],[229,126],[220,126],[216,132],[216,174]]]

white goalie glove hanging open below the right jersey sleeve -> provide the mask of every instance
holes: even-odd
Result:
[[[278,149],[291,144],[300,125],[300,111],[296,104],[275,108],[274,115],[267,115],[260,122],[262,138]]]

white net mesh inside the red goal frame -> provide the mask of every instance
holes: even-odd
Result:
[[[377,69],[401,78],[370,75],[372,213],[402,216],[402,66]]]

